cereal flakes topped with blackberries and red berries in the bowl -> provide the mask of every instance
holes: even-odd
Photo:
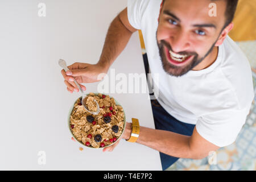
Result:
[[[70,116],[70,127],[76,139],[85,146],[94,148],[109,146],[122,134],[125,114],[122,106],[116,105],[114,98],[104,94],[89,93],[84,103],[89,110],[96,111],[96,100],[100,113],[93,115],[85,110],[79,98]]]

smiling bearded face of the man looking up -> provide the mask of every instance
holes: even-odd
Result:
[[[209,16],[212,2],[217,16]],[[164,71],[181,76],[206,60],[224,27],[225,10],[224,0],[166,0],[156,32]]]

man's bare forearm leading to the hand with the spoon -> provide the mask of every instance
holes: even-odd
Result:
[[[113,64],[114,60],[125,49],[132,34],[122,24],[119,16],[117,16],[110,24],[98,64],[109,69],[110,65]]]

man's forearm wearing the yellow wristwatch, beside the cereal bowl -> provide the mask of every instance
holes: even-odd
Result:
[[[125,139],[130,138],[131,123],[127,123]],[[189,147],[189,138],[185,135],[173,133],[171,131],[155,130],[140,126],[137,143],[143,144],[154,150],[171,155],[177,158],[193,159],[196,156]]]

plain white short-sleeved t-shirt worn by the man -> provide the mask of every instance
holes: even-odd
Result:
[[[162,0],[128,0],[128,19],[142,31],[151,73],[159,73],[160,105],[173,117],[196,125],[197,132],[216,146],[236,140],[254,99],[249,61],[227,36],[218,47],[216,61],[181,77],[168,75],[156,43]]]

